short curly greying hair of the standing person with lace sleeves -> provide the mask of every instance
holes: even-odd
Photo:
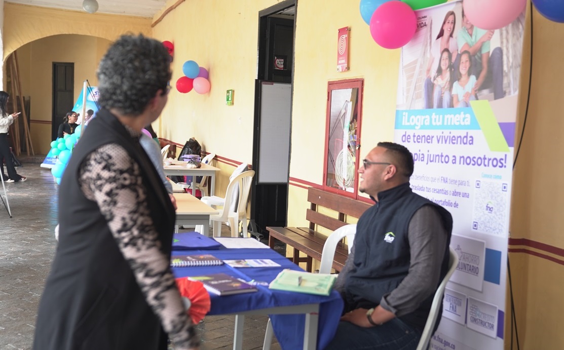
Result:
[[[96,74],[100,106],[138,116],[158,90],[167,92],[169,53],[160,41],[125,35],[102,57]]]

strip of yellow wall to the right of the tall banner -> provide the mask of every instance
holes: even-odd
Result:
[[[512,238],[527,238],[564,249],[564,217],[561,213],[564,187],[560,181],[564,165],[559,157],[564,151],[562,93],[559,88],[564,79],[564,70],[559,68],[564,48],[554,45],[564,40],[564,26],[545,19],[534,10],[533,28],[531,98],[523,143],[515,163],[510,232]],[[529,87],[530,26],[526,31],[519,131],[526,112]],[[518,132],[517,136],[520,135]],[[532,254],[547,255],[560,262],[564,260],[562,254],[554,255],[529,246],[518,248]],[[558,264],[523,252],[510,253],[509,259],[521,347],[564,348],[564,334],[560,327],[564,309],[564,282],[561,278],[564,276],[564,263]],[[507,312],[509,314],[509,308]],[[509,330],[508,318],[506,325]],[[509,334],[506,334],[509,340]]]

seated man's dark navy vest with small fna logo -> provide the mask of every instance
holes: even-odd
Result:
[[[409,183],[405,183],[378,193],[376,205],[358,220],[354,267],[345,282],[346,303],[351,309],[376,307],[382,296],[393,291],[407,276],[411,260],[407,236],[409,221],[425,205],[437,209],[448,233],[439,283],[442,281],[448,270],[452,216],[443,207],[413,193]],[[400,316],[400,320],[422,330],[433,296],[421,303],[415,312]]]

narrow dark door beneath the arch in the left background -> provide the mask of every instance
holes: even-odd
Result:
[[[53,62],[52,105],[51,140],[55,140],[59,125],[74,105],[74,63]]]

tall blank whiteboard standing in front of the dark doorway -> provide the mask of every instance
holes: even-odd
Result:
[[[262,82],[258,183],[288,183],[292,84]]]

